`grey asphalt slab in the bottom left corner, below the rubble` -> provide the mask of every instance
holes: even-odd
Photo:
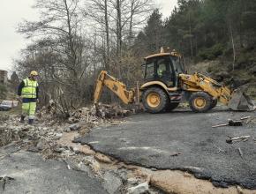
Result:
[[[100,181],[87,173],[69,170],[63,161],[44,161],[36,153],[11,153],[0,159],[0,167],[0,193],[3,194],[107,193]],[[14,178],[5,183],[4,189],[3,175]]]

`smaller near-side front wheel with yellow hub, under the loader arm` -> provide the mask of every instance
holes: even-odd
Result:
[[[197,92],[192,93],[189,100],[189,105],[193,112],[204,113],[212,108],[212,101],[212,97],[208,93]]]

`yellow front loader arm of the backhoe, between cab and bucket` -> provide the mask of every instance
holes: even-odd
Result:
[[[193,75],[180,74],[181,86],[184,91],[209,93],[213,99],[221,101],[224,105],[229,104],[232,98],[232,91],[227,86],[222,86],[212,78],[200,73]]]

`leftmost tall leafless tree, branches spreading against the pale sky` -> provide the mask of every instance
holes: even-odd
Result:
[[[74,106],[83,99],[81,85],[88,66],[79,0],[37,0],[34,8],[41,11],[40,20],[24,21],[19,33],[54,53],[51,77]]]

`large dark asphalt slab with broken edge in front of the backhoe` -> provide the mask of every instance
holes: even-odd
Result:
[[[255,112],[212,110],[195,114],[177,110],[165,114],[139,114],[117,126],[95,128],[75,142],[92,146],[128,164],[147,168],[180,169],[198,178],[211,180],[215,186],[241,185],[256,189],[256,127],[212,128],[229,118],[255,116]],[[249,135],[246,142],[227,144],[226,139]],[[240,156],[238,148],[242,150]],[[181,153],[172,156],[173,153]]]

